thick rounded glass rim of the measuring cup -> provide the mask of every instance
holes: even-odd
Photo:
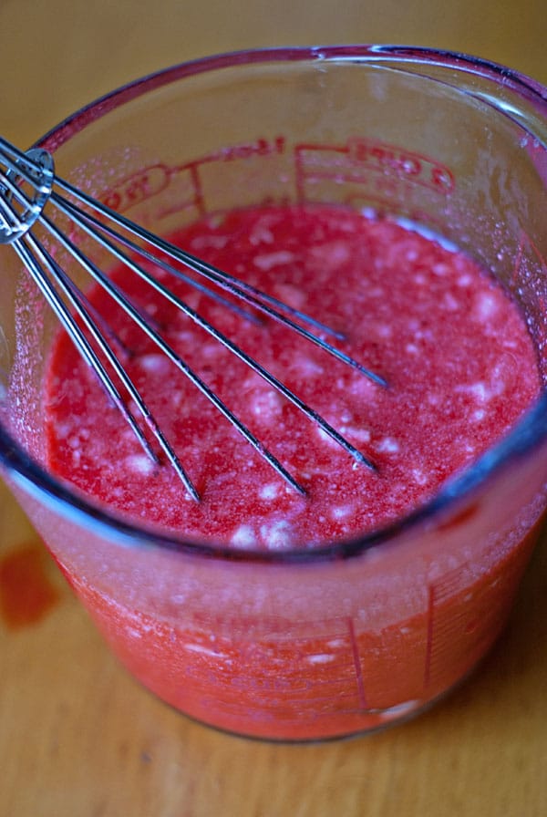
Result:
[[[129,84],[117,88],[96,99],[84,108],[64,119],[36,142],[35,147],[55,152],[67,140],[100,119],[110,110],[117,109],[134,98],[150,93],[171,82],[185,77],[224,67],[235,67],[266,62],[291,62],[313,60],[349,60],[364,63],[396,62],[419,67],[449,67],[454,70],[453,84],[457,85],[458,73],[475,74],[490,80],[492,87],[503,87],[516,92],[542,116],[547,125],[547,88],[534,79],[480,57],[470,57],[455,52],[426,47],[388,45],[352,45],[326,47],[280,47],[237,51],[212,57],[202,57],[176,66],[168,67]],[[471,93],[468,89],[465,92]],[[481,97],[482,98],[482,97]],[[499,109],[517,121],[523,130],[525,121],[518,109],[503,105],[490,98],[490,104],[499,101]],[[529,131],[530,132],[530,131]],[[537,134],[531,134],[537,138]],[[547,140],[547,137],[546,137]],[[387,543],[415,525],[432,520],[443,511],[470,497],[473,490],[488,480],[490,475],[501,471],[525,456],[542,440],[547,439],[547,389],[532,408],[523,415],[511,432],[475,460],[466,469],[447,481],[436,495],[413,512],[402,516],[376,531],[363,536],[343,540],[313,549],[294,548],[286,551],[247,551],[227,544],[191,541],[175,534],[159,533],[152,525],[139,526],[129,522],[116,512],[72,489],[67,482],[59,481],[32,460],[0,424],[0,462],[16,485],[34,496],[39,502],[48,503],[52,511],[80,525],[91,528],[98,535],[106,534],[110,541],[126,546],[157,546],[182,553],[207,555],[222,560],[238,562],[262,562],[265,564],[304,563],[315,564],[345,559],[364,553],[368,548]]]

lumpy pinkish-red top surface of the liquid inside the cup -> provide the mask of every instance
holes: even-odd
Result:
[[[175,242],[344,333],[335,345],[388,388],[270,320],[253,323],[158,277],[377,465],[357,466],[314,422],[132,274],[126,292],[178,354],[281,460],[300,496],[103,293],[91,301],[130,349],[124,365],[201,503],[155,468],[59,335],[46,388],[49,467],[133,518],[246,549],[366,533],[426,502],[506,433],[539,390],[521,315],[489,274],[396,222],[335,207],[231,212]],[[124,353],[125,354],[125,353]]]

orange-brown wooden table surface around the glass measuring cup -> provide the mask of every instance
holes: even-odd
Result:
[[[239,5],[3,0],[5,136],[25,147],[131,78],[241,47],[412,42],[479,53],[547,83],[544,0]],[[17,575],[18,605],[4,597],[0,616],[0,817],[547,813],[545,543],[507,632],[464,687],[406,726],[312,746],[218,734],[139,688],[0,488],[0,580]]]

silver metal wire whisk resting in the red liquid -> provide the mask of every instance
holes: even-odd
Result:
[[[63,195],[66,194],[66,195]],[[89,304],[88,298],[81,289],[71,280],[66,271],[61,268],[43,241],[36,236],[33,230],[40,225],[48,234],[47,243],[53,239],[62,247],[91,277],[102,286],[129,317],[145,332],[160,350],[189,377],[191,382],[211,400],[215,408],[228,419],[243,435],[255,450],[266,460],[295,491],[304,494],[304,488],[294,479],[282,463],[267,450],[245,424],[238,419],[222,400],[201,380],[201,377],[189,367],[177,352],[160,336],[157,328],[152,325],[150,318],[144,315],[138,306],[131,303],[119,286],[109,280],[108,276],[99,269],[88,254],[84,253],[68,235],[52,221],[61,213],[67,217],[72,225],[88,236],[112,255],[133,273],[150,284],[160,295],[175,305],[185,315],[188,315],[196,324],[205,329],[216,341],[228,348],[234,355],[251,367],[254,372],[275,388],[284,398],[290,400],[304,415],[323,429],[325,434],[335,440],[357,463],[376,471],[375,464],[361,451],[357,450],[329,423],[320,417],[313,408],[307,406],[283,382],[263,368],[260,363],[249,357],[243,349],[236,346],[229,337],[217,330],[199,313],[174,295],[168,287],[161,284],[153,274],[147,272],[143,262],[151,262],[162,270],[197,287],[226,308],[234,309],[243,318],[253,318],[247,307],[273,318],[285,326],[290,327],[300,336],[304,336],[311,343],[320,346],[326,353],[355,368],[365,377],[386,386],[386,381],[374,372],[362,366],[352,357],[325,341],[323,336],[331,336],[336,340],[343,340],[344,336],[325,326],[313,317],[305,315],[282,301],[266,295],[250,284],[227,274],[212,264],[201,261],[200,258],[187,253],[150,233],[129,219],[111,210],[106,205],[91,198],[72,184],[60,179],[54,171],[54,162],[46,150],[28,150],[26,153],[17,150],[6,140],[0,138],[0,243],[10,243],[19,258],[32,275],[47,303],[52,307],[67,334],[77,346],[79,353],[85,358],[88,365],[95,371],[99,382],[105,388],[108,396],[113,400],[124,419],[139,440],[154,463],[160,464],[160,456],[152,447],[145,434],[142,424],[150,429],[156,440],[156,446],[162,451],[173,469],[181,478],[187,491],[194,500],[199,501],[190,476],[185,471],[181,460],[172,449],[160,429],[158,423],[150,413],[144,400],[139,394],[112,345],[112,333],[105,326],[105,322],[97,314],[95,308]],[[130,253],[130,254],[128,254]],[[135,259],[139,259],[138,263]],[[186,269],[198,274],[201,280],[196,280],[173,264],[183,264]],[[1,273],[0,273],[1,275]],[[241,306],[224,298],[220,293],[212,290],[214,285],[234,296]],[[302,326],[304,325],[304,326]],[[82,326],[85,326],[87,333]],[[307,327],[307,328],[306,328]],[[93,346],[91,340],[95,343]],[[102,359],[99,356],[102,355]],[[107,370],[106,364],[118,378],[116,384]],[[124,398],[120,387],[132,400],[140,415],[141,423],[129,408],[129,399]],[[135,412],[137,413],[137,412]]]

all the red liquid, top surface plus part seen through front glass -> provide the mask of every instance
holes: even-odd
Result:
[[[350,538],[426,502],[511,429],[539,392],[521,315],[490,275],[395,222],[330,207],[264,209],[194,224],[177,242],[342,331],[346,341],[336,344],[386,378],[387,389],[283,326],[255,326],[186,284],[168,282],[379,471],[356,468],[188,318],[143,285],[124,283],[181,357],[307,491],[303,498],[287,486],[108,296],[94,293],[131,349],[129,373],[202,502],[191,501],[170,468],[151,466],[66,336],[55,346],[47,384],[49,467],[133,517],[246,549]],[[418,708],[473,666],[499,631],[528,546],[518,544],[497,562],[485,553],[480,578],[456,582],[453,590],[431,584],[423,615],[401,614],[378,633],[357,632],[348,618],[342,631],[336,625],[330,635],[300,642],[294,634],[280,640],[279,633],[259,642],[217,638],[211,622],[167,620],[160,603],[150,613],[114,602],[81,577],[71,581],[128,667],[174,706],[249,734],[324,737],[391,717],[371,710]],[[457,615],[462,628],[459,642],[450,633],[454,643],[442,662],[432,647],[433,609],[435,626]]]

